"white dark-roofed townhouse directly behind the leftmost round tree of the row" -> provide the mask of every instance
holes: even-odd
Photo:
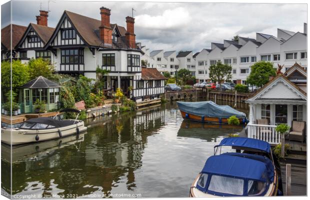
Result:
[[[196,60],[193,58],[192,51],[179,51],[176,58],[179,60],[179,69],[187,68],[192,76],[196,76]]]

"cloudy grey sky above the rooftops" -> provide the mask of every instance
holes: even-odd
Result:
[[[47,10],[47,1],[12,1],[12,23],[35,23],[40,6]],[[306,4],[50,1],[48,26],[55,27],[63,10],[100,19],[101,6],[111,9],[111,23],[122,26],[133,7],[136,41],[151,50],[194,52],[236,34],[255,37],[255,32],[262,32],[276,36],[277,28],[303,31],[307,14]],[[9,6],[2,5],[1,27],[9,24],[9,13]]]

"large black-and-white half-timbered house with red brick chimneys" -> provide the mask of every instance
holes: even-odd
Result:
[[[133,17],[126,17],[124,28],[110,23],[110,9],[106,7],[100,7],[101,20],[65,10],[56,27],[50,28],[47,15],[47,11],[40,10],[37,24],[30,23],[23,33],[16,45],[20,59],[43,57],[51,60],[58,73],[94,79],[100,75],[97,68],[106,69],[105,89],[115,91],[119,87],[135,100],[154,98],[164,92],[158,89],[163,88],[164,81],[153,83],[142,78],[143,52],[135,43]],[[142,86],[149,90],[147,96],[138,92]]]

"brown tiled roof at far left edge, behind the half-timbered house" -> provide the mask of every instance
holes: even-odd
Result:
[[[10,50],[11,32],[12,32],[12,47],[14,48],[14,46],[21,39],[26,29],[27,26],[23,25],[9,24],[5,26],[4,28],[1,29],[1,44],[4,45],[8,50]]]

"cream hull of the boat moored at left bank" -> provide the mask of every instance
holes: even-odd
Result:
[[[59,128],[46,128],[46,129],[19,129],[19,128],[1,128],[1,142],[11,145],[18,145],[24,143],[40,142],[59,137],[65,137],[77,132],[86,131],[87,127],[84,122],[77,120],[75,124],[59,127]],[[61,136],[59,135],[59,130]],[[38,139],[36,139],[38,135]]]

